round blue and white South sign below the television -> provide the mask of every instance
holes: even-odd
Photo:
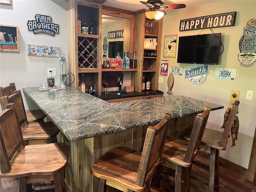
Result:
[[[194,85],[202,84],[209,74],[209,65],[189,64],[185,70],[185,79]]]

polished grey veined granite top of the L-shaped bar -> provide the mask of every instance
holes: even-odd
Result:
[[[164,113],[177,119],[202,113],[205,106],[212,110],[224,107],[185,96],[110,103],[73,87],[55,93],[38,87],[23,91],[71,141],[158,123]]]

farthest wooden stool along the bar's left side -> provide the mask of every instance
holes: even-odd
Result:
[[[12,82],[10,85],[6,87],[0,87],[0,97],[2,96],[10,96],[11,94],[14,94],[14,91],[16,90],[15,83]],[[2,102],[1,102],[2,106]],[[2,110],[4,110],[4,107],[2,107]],[[42,110],[26,110],[26,116],[28,119],[28,122],[43,122],[44,118],[46,117],[46,114],[42,112]]]

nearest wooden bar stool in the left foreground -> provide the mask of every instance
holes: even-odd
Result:
[[[63,169],[68,161],[65,143],[25,146],[15,105],[0,113],[1,178],[20,178],[19,192],[31,190],[31,183],[54,181],[55,192],[65,192]]]

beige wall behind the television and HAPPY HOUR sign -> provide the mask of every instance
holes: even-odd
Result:
[[[174,86],[172,88],[174,95],[189,96],[224,106],[224,109],[222,110],[211,112],[208,128],[220,130],[220,126],[223,123],[224,112],[229,104],[231,90],[240,91],[240,128],[238,140],[236,141],[236,146],[231,148],[230,146],[232,142],[231,139],[229,139],[226,151],[221,151],[220,156],[243,166],[244,168],[248,168],[256,128],[256,64],[249,68],[240,66],[240,63],[238,62],[238,41],[242,36],[243,26],[245,26],[246,22],[252,18],[256,18],[256,1],[217,1],[213,4],[190,9],[166,10],[167,14],[164,16],[162,45],[164,44],[164,36],[166,35],[178,34],[179,37],[197,35],[199,33],[211,33],[210,29],[205,29],[204,31],[192,30],[180,32],[180,20],[233,11],[236,11],[235,26],[212,28],[215,33],[222,33],[221,42],[224,45],[224,52],[219,56],[219,63],[217,66],[210,65],[210,72],[204,83],[193,85],[188,82],[188,80],[184,79],[184,70],[188,67],[188,64],[177,63],[177,57],[163,58],[163,47],[161,59],[169,60],[169,72],[171,66],[183,67],[182,76],[174,75]],[[216,68],[236,69],[236,80],[215,79],[214,72]],[[164,77],[164,84],[159,84],[159,90],[166,93],[168,90],[168,76],[160,77]],[[245,100],[247,90],[254,91],[252,101]],[[167,96],[167,94],[164,95]]]

